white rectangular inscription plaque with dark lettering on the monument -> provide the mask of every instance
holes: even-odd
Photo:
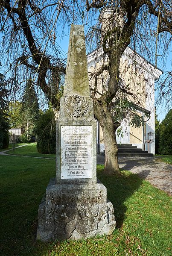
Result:
[[[61,125],[61,179],[92,178],[92,126]]]

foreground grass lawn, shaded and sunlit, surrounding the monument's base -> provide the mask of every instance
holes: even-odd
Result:
[[[35,240],[37,213],[55,161],[0,156],[0,256],[172,255],[171,197],[131,172],[106,177],[102,170],[98,165],[114,205],[113,235],[45,244]]]

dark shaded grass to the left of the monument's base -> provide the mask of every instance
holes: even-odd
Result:
[[[0,256],[45,255],[47,245],[35,241],[38,206],[55,162],[0,156]]]

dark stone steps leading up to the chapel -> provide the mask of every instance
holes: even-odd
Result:
[[[148,151],[143,151],[141,148],[132,146],[132,144],[117,144],[118,156],[154,156]]]

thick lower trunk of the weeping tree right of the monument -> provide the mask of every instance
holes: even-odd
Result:
[[[105,174],[120,174],[118,165],[118,148],[116,140],[116,129],[120,125],[113,123],[113,116],[105,103],[94,101],[94,112],[100,126],[102,127],[105,143]]]

